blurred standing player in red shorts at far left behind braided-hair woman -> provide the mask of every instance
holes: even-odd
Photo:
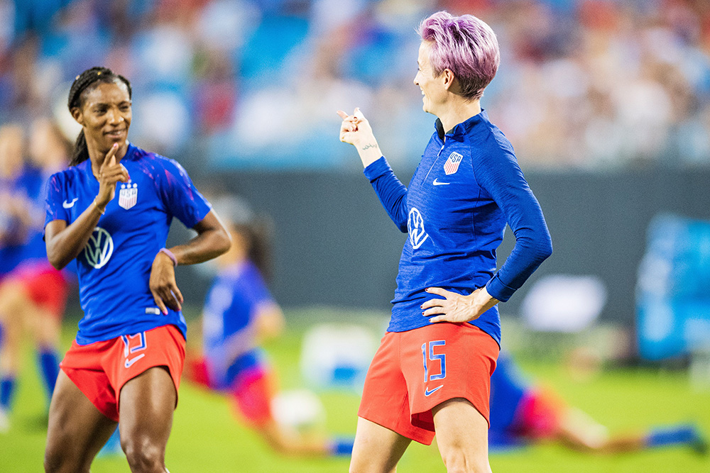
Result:
[[[31,332],[38,349],[38,364],[48,399],[59,374],[59,338],[67,299],[67,276],[47,260],[43,240],[46,183],[51,174],[66,167],[70,143],[48,119],[33,122],[30,131],[30,165],[14,190],[15,206],[22,213],[25,243],[21,262],[0,282],[0,430],[7,428],[21,367],[21,335]]]

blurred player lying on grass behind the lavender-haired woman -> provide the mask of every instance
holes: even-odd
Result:
[[[671,425],[628,435],[606,427],[557,394],[523,381],[510,355],[501,352],[491,376],[491,450],[525,443],[558,442],[582,452],[621,453],[684,445],[705,454],[708,445],[694,425]]]

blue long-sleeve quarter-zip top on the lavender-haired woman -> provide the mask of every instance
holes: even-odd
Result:
[[[552,253],[540,204],[515,159],[513,146],[481,111],[444,134],[437,119],[414,176],[405,187],[381,157],[365,176],[398,228],[409,233],[400,257],[388,331],[428,325],[420,305],[437,296],[427,287],[508,301]],[[496,272],[496,248],[506,223],[515,248]],[[501,343],[498,306],[472,324]]]

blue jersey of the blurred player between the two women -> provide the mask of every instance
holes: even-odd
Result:
[[[214,279],[202,316],[202,346],[214,388],[226,389],[263,364],[254,322],[264,304],[275,302],[252,262],[227,267]]]

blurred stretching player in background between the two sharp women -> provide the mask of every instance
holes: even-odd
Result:
[[[227,394],[246,423],[274,450],[287,455],[350,455],[352,439],[311,438],[280,425],[273,416],[273,369],[260,345],[278,337],[283,312],[264,277],[270,257],[268,225],[253,218],[241,199],[214,203],[232,245],[217,258],[218,274],[202,312],[203,357],[189,363],[193,381]]]

